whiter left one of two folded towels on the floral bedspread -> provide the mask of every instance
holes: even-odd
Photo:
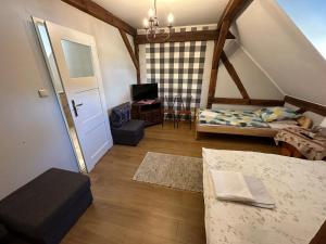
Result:
[[[215,195],[218,200],[254,202],[240,172],[210,169]]]

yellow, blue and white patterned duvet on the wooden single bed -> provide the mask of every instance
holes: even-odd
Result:
[[[252,111],[202,110],[199,113],[199,123],[209,125],[269,128],[268,124],[264,123],[261,117]]]

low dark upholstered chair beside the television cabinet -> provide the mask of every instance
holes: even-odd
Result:
[[[130,103],[112,108],[110,124],[115,144],[137,145],[143,138],[145,121],[130,119]]]

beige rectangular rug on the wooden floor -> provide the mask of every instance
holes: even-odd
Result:
[[[202,158],[148,152],[134,180],[202,192]]]

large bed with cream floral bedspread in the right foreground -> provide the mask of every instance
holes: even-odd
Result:
[[[260,178],[276,208],[217,201],[209,168]],[[308,244],[326,219],[326,164],[203,149],[203,193],[208,244]]]

